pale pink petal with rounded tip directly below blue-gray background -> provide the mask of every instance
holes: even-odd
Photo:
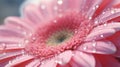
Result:
[[[33,27],[29,23],[25,22],[22,18],[18,17],[8,17],[5,19],[5,25],[9,27],[14,27],[15,29],[21,29],[22,31],[30,32]]]

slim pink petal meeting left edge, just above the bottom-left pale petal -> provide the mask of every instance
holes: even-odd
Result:
[[[22,54],[21,51],[2,53],[2,54],[0,54],[0,60],[4,60],[4,59],[10,58],[10,57],[14,57],[14,56],[18,56],[18,55],[21,55],[21,54]]]

